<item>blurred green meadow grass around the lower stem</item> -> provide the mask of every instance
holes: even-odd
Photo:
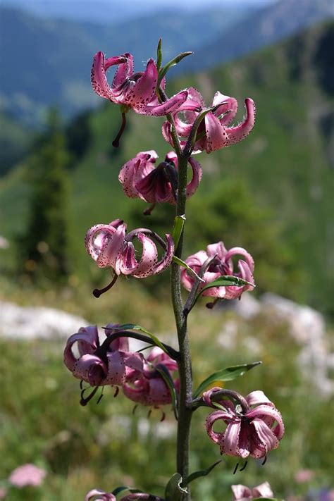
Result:
[[[126,316],[127,321],[165,333],[161,337],[176,345],[173,323],[168,319],[169,304],[155,302],[132,288],[136,308],[132,307],[124,299],[123,285],[101,298],[110,305],[112,318],[106,319],[106,311],[101,314],[106,303],[97,313],[99,302],[88,295],[81,302],[84,293],[69,301],[68,292],[63,292],[54,301],[45,295],[43,300],[35,290],[30,300],[85,312],[87,319],[99,326],[105,320],[125,321]],[[24,302],[22,297],[16,299]],[[89,309],[88,304],[94,307]],[[153,315],[144,318],[140,311]],[[264,390],[282,412],[286,428],[280,447],[271,452],[265,466],[251,460],[245,471],[233,476],[235,458],[223,457],[208,477],[194,481],[194,500],[230,499],[232,483],[258,485],[265,480],[271,483],[276,496],[283,498],[297,495],[304,499],[310,489],[330,488],[332,457],[328,444],[333,443],[333,401],[317,394],[311,373],[309,379],[302,378],[297,364],[299,347],[287,334],[285,324],[266,314],[245,322],[231,311],[209,311],[199,303],[190,321],[190,337],[194,385],[223,366],[262,359],[262,366],[226,387],[245,395],[255,389]],[[0,350],[0,448],[6,458],[0,465],[0,478],[7,478],[25,462],[48,471],[41,488],[11,489],[10,500],[80,500],[91,488],[112,490],[118,485],[163,495],[163,486],[175,472],[175,421],[168,407],[163,423],[159,421],[161,410],[154,410],[149,419],[144,407],[132,414],[132,402],[125,400],[121,392],[113,398],[109,388],[98,405],[93,400],[87,407],[80,407],[79,381],[63,366],[63,343],[1,338]],[[206,415],[207,409],[203,408],[194,414],[192,471],[206,469],[221,459],[218,447],[206,435]],[[296,483],[295,474],[305,468],[315,472],[314,479],[307,484]]]

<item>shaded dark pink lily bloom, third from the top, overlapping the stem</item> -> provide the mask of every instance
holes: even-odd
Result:
[[[135,158],[123,165],[118,180],[123,185],[124,193],[130,198],[141,198],[145,202],[176,203],[176,187],[178,179],[178,157],[174,151],[166,155],[165,161],[155,166],[158,155],[156,151],[140,151]],[[202,179],[202,168],[199,163],[190,158],[192,179],[187,184],[187,197],[197,190]],[[175,190],[173,190],[173,180]]]

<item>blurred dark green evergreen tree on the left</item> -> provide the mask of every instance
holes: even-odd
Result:
[[[70,156],[58,113],[49,112],[47,134],[28,161],[32,194],[20,262],[35,279],[62,280],[68,273],[68,172]]]

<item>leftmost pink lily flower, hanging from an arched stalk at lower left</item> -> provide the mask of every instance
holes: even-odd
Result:
[[[106,329],[106,335],[112,332]],[[79,356],[73,354],[73,345],[78,344]],[[143,370],[140,353],[129,352],[128,338],[119,338],[110,343],[109,349],[101,350],[97,326],[82,327],[68,338],[64,350],[64,363],[75,378],[91,386],[123,385],[137,378]]]

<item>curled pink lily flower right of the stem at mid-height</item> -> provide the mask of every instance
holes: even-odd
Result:
[[[243,256],[244,259],[239,259],[237,262],[238,272],[234,271],[233,266],[233,256]],[[236,299],[242,295],[242,292],[246,290],[254,289],[254,259],[252,256],[242,247],[233,247],[229,251],[225,249],[223,242],[218,242],[216,244],[211,244],[206,247],[206,252],[201,250],[192,256],[187,257],[185,262],[190,268],[192,268],[196,273],[202,268],[206,259],[214,258],[209,265],[203,276],[204,282],[199,285],[199,291],[207,284],[213,282],[217,278],[224,275],[233,275],[253,285],[228,285],[226,287],[211,287],[210,289],[204,290],[204,296],[217,297],[221,299]],[[191,290],[192,285],[194,285],[195,278],[192,274],[188,273],[186,268],[181,270],[181,283],[186,290]]]

